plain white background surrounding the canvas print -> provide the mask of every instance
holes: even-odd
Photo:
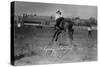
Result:
[[[11,1],[13,0],[0,0],[0,67],[12,67],[10,65],[10,2]],[[15,0],[15,1],[20,1],[20,0]],[[26,0],[21,0],[21,1],[26,1]],[[100,0],[27,0],[27,1],[98,6],[98,34],[99,34]],[[100,42],[99,42],[99,35],[98,35],[98,48],[100,48],[99,44]],[[98,53],[100,53],[99,51],[100,49],[98,49]],[[99,63],[100,61],[49,64],[49,65],[31,65],[31,66],[34,67],[51,67],[51,66],[52,67],[55,66],[57,67],[99,67],[100,65]],[[26,67],[31,67],[31,66],[26,66]]]

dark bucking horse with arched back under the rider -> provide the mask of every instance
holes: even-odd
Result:
[[[74,23],[73,23],[72,19],[61,17],[57,21],[58,21],[58,23],[56,22],[56,24],[54,26],[56,31],[53,35],[52,41],[57,41],[59,35],[62,32],[66,32],[66,30],[68,30],[69,39],[73,40],[73,32],[74,32],[73,25],[74,25]]]

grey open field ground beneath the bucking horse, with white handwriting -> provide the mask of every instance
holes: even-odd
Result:
[[[93,30],[92,36],[88,37],[86,28],[74,27],[73,47],[70,47],[68,32],[63,33],[57,42],[51,42],[54,32],[50,27],[15,28],[15,65],[97,60],[97,30]],[[64,45],[58,46],[60,43]]]

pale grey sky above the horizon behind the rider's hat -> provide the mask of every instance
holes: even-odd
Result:
[[[36,13],[40,16],[55,16],[57,10],[62,12],[63,17],[80,17],[83,19],[87,19],[89,17],[97,18],[96,6],[15,2],[15,15]]]

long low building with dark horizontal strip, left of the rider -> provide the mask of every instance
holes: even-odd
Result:
[[[53,26],[55,19],[53,16],[37,16],[37,15],[26,15],[23,16],[23,22],[26,25],[42,25],[42,26]]]

